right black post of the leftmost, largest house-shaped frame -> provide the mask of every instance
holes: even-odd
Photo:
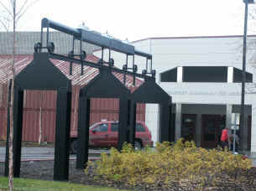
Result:
[[[67,181],[71,133],[71,92],[67,88],[61,88],[57,93],[55,126],[54,180]]]

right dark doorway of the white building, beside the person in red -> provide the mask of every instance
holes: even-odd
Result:
[[[220,144],[222,129],[225,126],[226,116],[201,115],[201,147],[217,147]]]

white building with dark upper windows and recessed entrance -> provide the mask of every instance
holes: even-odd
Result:
[[[248,82],[255,82],[256,36],[248,36]],[[136,49],[153,55],[156,81],[173,99],[175,137],[194,139],[201,147],[216,147],[224,126],[232,125],[232,113],[239,113],[243,36],[150,38],[133,42]],[[108,58],[105,50],[104,58]],[[101,52],[95,54],[101,57]],[[115,63],[126,56],[111,53]],[[129,58],[132,65],[132,58]],[[138,72],[145,69],[145,59],[135,57]],[[150,66],[150,65],[149,65]],[[197,67],[195,67],[197,66]],[[198,67],[200,66],[200,67]],[[212,67],[209,67],[212,66]],[[122,67],[122,65],[118,65]],[[150,68],[150,67],[149,67]],[[150,69],[149,69],[150,70]],[[243,149],[256,152],[256,106],[253,83],[247,83]],[[147,106],[146,124],[157,141],[158,107]]]

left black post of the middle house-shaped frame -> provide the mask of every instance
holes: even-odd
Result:
[[[88,162],[90,99],[81,95],[79,98],[76,168],[84,169]]]

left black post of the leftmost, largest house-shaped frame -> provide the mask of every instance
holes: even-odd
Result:
[[[15,88],[13,93],[13,177],[18,178],[20,173],[24,90]]]

